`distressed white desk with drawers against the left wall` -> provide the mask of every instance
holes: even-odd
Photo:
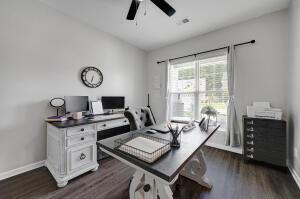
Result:
[[[87,171],[96,171],[97,132],[129,125],[124,115],[47,123],[46,166],[58,187]]]

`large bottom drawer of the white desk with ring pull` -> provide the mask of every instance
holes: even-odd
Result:
[[[96,144],[73,147],[67,150],[67,171],[72,173],[96,161]]]

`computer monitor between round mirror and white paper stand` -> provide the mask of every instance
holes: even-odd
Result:
[[[65,96],[66,113],[89,111],[88,96]]]

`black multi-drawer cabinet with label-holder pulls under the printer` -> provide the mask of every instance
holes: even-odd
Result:
[[[286,122],[244,116],[244,160],[286,167]]]

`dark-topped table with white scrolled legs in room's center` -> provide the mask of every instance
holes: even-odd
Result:
[[[204,177],[206,164],[201,147],[217,129],[202,132],[197,126],[189,132],[182,133],[180,148],[172,148],[153,164],[148,164],[115,149],[116,139],[125,139],[133,133],[145,133],[146,130],[147,128],[98,141],[102,151],[136,169],[130,184],[130,199],[157,199],[158,195],[161,199],[172,199],[173,193],[170,185],[177,180],[179,174],[207,188],[212,187],[209,180]],[[170,137],[169,134],[161,133],[155,133],[152,136],[165,139]]]

